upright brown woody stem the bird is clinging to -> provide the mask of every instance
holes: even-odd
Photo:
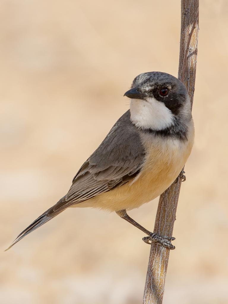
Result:
[[[181,0],[181,40],[178,79],[186,85],[191,105],[195,91],[195,73],[199,31],[199,0]],[[172,236],[181,188],[181,178],[161,194],[154,232]],[[152,242],[143,304],[161,304],[164,294],[169,249]]]

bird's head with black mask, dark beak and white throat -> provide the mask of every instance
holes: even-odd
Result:
[[[187,89],[170,74],[142,73],[124,96],[131,98],[132,122],[143,129],[163,130],[177,119],[191,119]]]

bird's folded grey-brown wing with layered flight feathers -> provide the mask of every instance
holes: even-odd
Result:
[[[128,110],[105,137],[101,145],[75,175],[71,188],[56,205],[55,212],[112,190],[135,178],[145,151]]]

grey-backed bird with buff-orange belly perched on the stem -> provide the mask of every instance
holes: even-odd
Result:
[[[175,248],[174,237],[150,232],[127,211],[164,192],[191,153],[194,123],[187,89],[176,77],[154,71],[136,76],[124,96],[130,98],[130,109],[81,166],[68,193],[23,230],[9,248],[68,207],[116,212],[147,235],[143,238],[146,243],[151,244],[150,240]]]

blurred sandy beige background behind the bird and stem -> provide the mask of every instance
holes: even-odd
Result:
[[[2,0],[0,302],[141,303],[150,247],[114,213],[67,209],[3,252],[69,189],[146,71],[177,76],[180,1]],[[164,304],[228,302],[227,1],[200,1],[193,116]],[[158,199],[129,212],[152,230]]]

